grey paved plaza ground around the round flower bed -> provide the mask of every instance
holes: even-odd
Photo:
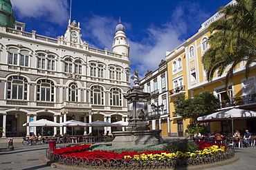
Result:
[[[13,151],[6,151],[7,145],[7,142],[0,143],[0,169],[53,169],[52,167],[49,167],[43,160],[43,156],[46,153],[46,148],[48,147],[47,144],[24,146],[21,144],[21,142],[16,142],[14,143],[15,150]],[[235,148],[235,153],[237,153],[237,158],[233,159],[232,164],[223,165],[223,162],[216,162],[214,164],[207,164],[208,167],[202,167],[199,165],[183,167],[182,169],[256,169],[256,147],[244,147],[240,149]],[[209,168],[209,166],[211,167]],[[63,169],[63,167],[57,167],[55,169]]]

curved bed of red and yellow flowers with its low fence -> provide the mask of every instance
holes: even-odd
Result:
[[[54,149],[47,156],[60,164],[79,167],[176,167],[205,164],[226,160],[234,156],[234,149],[210,142],[197,142],[199,150],[191,153],[177,151],[146,151],[115,153],[113,151],[89,151],[91,145],[75,145]]]

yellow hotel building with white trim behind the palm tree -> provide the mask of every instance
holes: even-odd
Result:
[[[235,3],[235,1],[230,3]],[[199,32],[194,34],[194,36],[179,45],[179,47],[176,47],[172,52],[166,52],[171,136],[184,136],[185,129],[187,129],[187,125],[190,123],[189,119],[184,120],[181,116],[175,114],[173,101],[180,94],[193,97],[194,94],[200,94],[208,90],[219,98],[222,109],[224,107],[238,107],[240,109],[256,110],[256,97],[253,95],[256,92],[255,63],[251,65],[248,79],[246,79],[244,63],[240,63],[239,67],[237,67],[234,78],[228,85],[228,93],[231,98],[228,98],[226,94],[224,84],[226,73],[219,77],[215,75],[212,81],[207,81],[201,59],[204,52],[209,48],[208,43],[206,43],[210,36],[208,26],[222,17],[223,14],[217,12],[201,25]],[[253,123],[255,120],[253,118],[235,120],[234,129],[241,131],[249,129],[251,132],[256,132],[256,125]],[[231,131],[230,124],[230,120],[208,123],[208,129],[210,131]]]

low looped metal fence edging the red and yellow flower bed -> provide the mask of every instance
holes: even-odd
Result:
[[[187,156],[187,157],[166,157],[161,159],[105,159],[105,158],[81,158],[73,156],[63,156],[54,153],[49,153],[46,149],[46,158],[48,160],[75,167],[91,168],[91,169],[161,169],[173,167],[185,167],[188,165],[210,164],[227,160],[235,156],[235,149],[232,146],[227,146],[226,151]]]

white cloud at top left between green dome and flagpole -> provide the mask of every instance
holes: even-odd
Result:
[[[20,19],[40,18],[58,24],[68,21],[69,7],[66,0],[11,0],[11,3]]]

